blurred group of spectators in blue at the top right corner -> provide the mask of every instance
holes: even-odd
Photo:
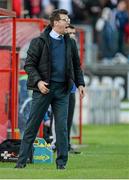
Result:
[[[116,55],[128,56],[125,44],[129,37],[129,16],[125,1],[119,1],[116,6],[110,4],[103,8],[95,28],[101,58],[112,60]]]

